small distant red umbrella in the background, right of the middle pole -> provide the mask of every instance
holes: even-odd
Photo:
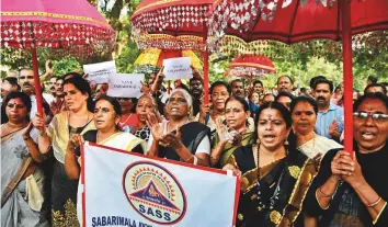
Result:
[[[229,76],[249,77],[252,86],[252,77],[265,76],[276,72],[275,66],[269,57],[260,55],[238,56],[228,68]]]

